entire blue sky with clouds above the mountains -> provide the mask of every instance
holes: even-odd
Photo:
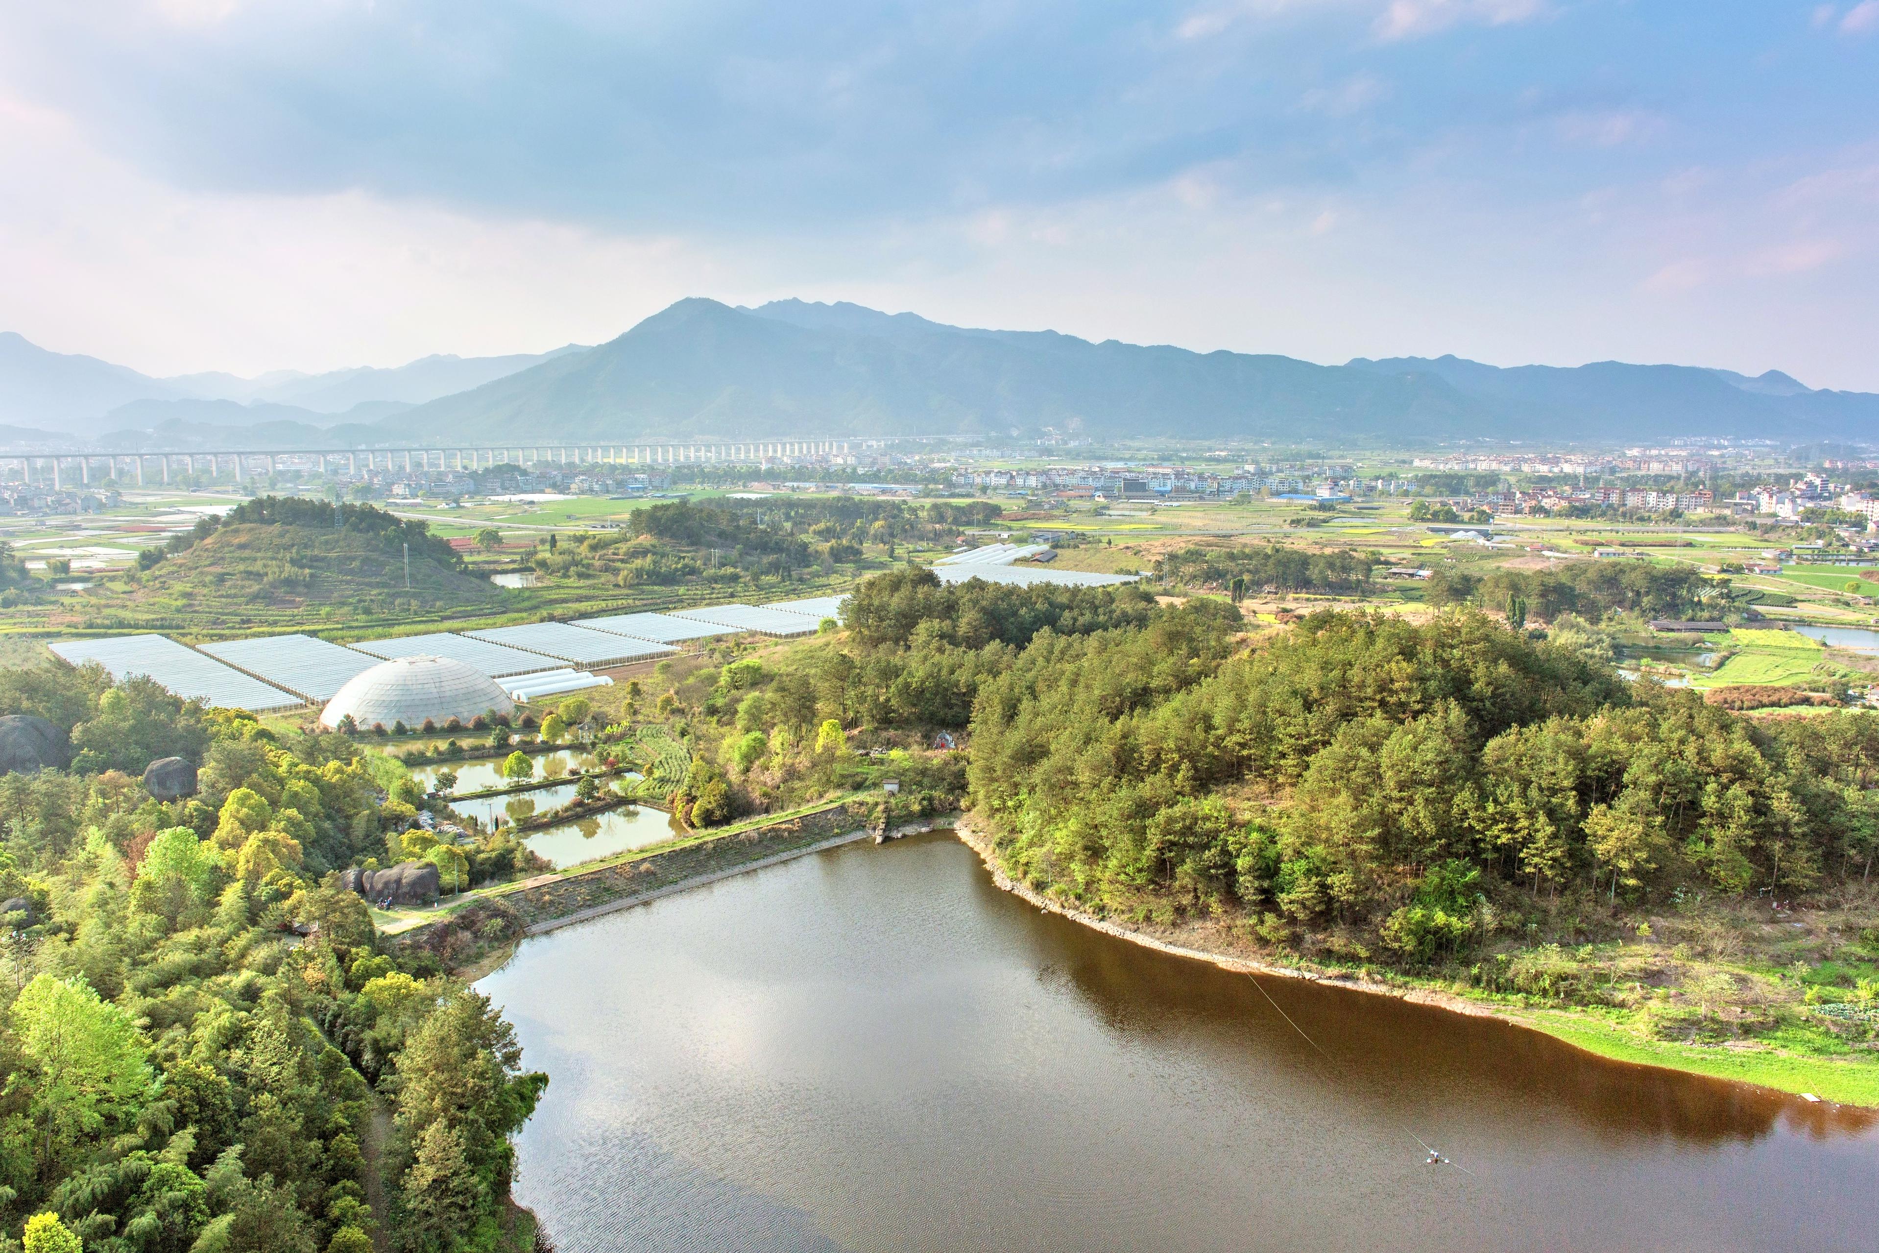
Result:
[[[0,329],[148,374],[688,295],[1879,391],[1879,0],[0,6]]]

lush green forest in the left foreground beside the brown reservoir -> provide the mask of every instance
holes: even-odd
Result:
[[[0,778],[0,1247],[528,1247],[509,1135],[545,1076],[327,875],[404,855],[402,768],[96,667],[4,671],[0,712],[71,753]],[[154,800],[171,755],[197,793]]]

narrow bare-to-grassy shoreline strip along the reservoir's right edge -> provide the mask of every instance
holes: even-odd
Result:
[[[1095,915],[1084,913],[1062,902],[1050,900],[1037,889],[1013,879],[998,855],[992,849],[992,840],[975,828],[966,815],[953,825],[953,832],[958,842],[979,855],[979,860],[992,875],[992,883],[1003,890],[1011,892],[1018,900],[1035,905],[1047,913],[1060,915],[1077,922],[1079,926],[1088,926],[1092,930],[1103,932],[1105,936],[1114,936],[1116,939],[1126,939],[1144,949],[1157,949],[1161,952],[1189,958],[1195,962],[1206,962],[1208,966],[1218,966],[1219,969],[1240,973],[1240,975],[1274,975],[1280,979],[1302,979],[1306,982],[1319,982],[1332,988],[1347,988],[1351,992],[1368,992],[1372,996],[1390,996],[1400,1001],[1409,1001],[1415,1005],[1432,1005],[1436,1009],[1445,1009],[1456,1014],[1467,1014],[1471,1018],[1496,1018],[1514,1028],[1526,1031],[1539,1031],[1541,1035],[1552,1037],[1569,1048],[1588,1052],[1595,1058],[1603,1058],[1616,1065],[1648,1065],[1663,1071],[1680,1071],[1684,1075],[1699,1075],[1702,1078],[1716,1078],[1732,1084],[1749,1084],[1755,1088],[1766,1088],[1770,1091],[1779,1091],[1791,1097],[1813,1095],[1830,1105],[1849,1105],[1856,1108],[1879,1108],[1879,1065],[1866,1063],[1840,1063],[1826,1060],[1802,1058],[1793,1054],[1779,1054],[1774,1050],[1759,1050],[1753,1054],[1732,1052],[1732,1050],[1697,1050],[1680,1044],[1661,1044],[1655,1041],[1644,1041],[1631,1037],[1608,1024],[1599,1022],[1590,1014],[1580,1014],[1571,1009],[1546,1009],[1546,1011],[1514,1011],[1494,1003],[1475,1001],[1454,992],[1441,992],[1436,988],[1419,988],[1413,984],[1394,984],[1375,979],[1362,979],[1355,975],[1332,975],[1325,971],[1308,969],[1302,966],[1280,966],[1276,962],[1263,962],[1257,958],[1229,956],[1225,952],[1210,952],[1206,949],[1193,949],[1188,945],[1176,945],[1146,932],[1137,932],[1120,922],[1110,922],[1109,919],[1099,919]],[[1560,1022],[1554,1022],[1558,1018]],[[1717,1056],[1710,1056],[1710,1054]],[[1860,1073],[1866,1071],[1866,1073]],[[1787,1082],[1783,1082],[1787,1080]],[[1834,1095],[1841,1093],[1841,1095]],[[1851,1097],[1851,1099],[1849,1099]]]

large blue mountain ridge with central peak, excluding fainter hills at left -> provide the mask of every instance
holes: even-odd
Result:
[[[690,299],[626,334],[396,419],[421,436],[579,440],[1018,434],[1105,438],[1879,438],[1879,396],[1770,372],[1458,357],[1319,366],[1054,331],[977,331],[859,304]]]

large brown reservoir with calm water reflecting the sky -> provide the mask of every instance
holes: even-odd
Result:
[[[1871,1116],[1152,952],[945,836],[530,939],[519,1199],[592,1249],[1862,1249]],[[1460,1167],[1422,1165],[1417,1137]]]

